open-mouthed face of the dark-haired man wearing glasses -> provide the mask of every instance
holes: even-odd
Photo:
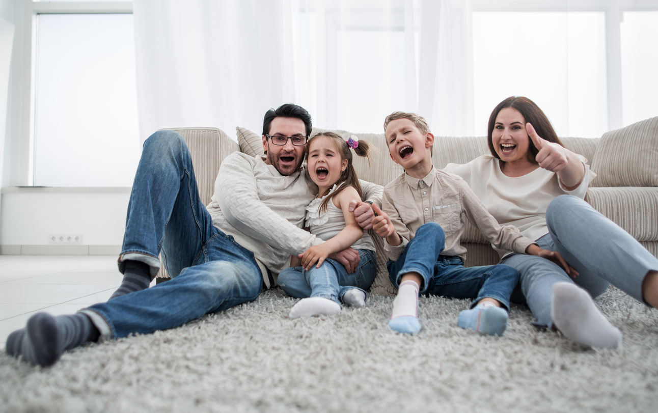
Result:
[[[303,120],[297,118],[274,118],[270,124],[270,136],[305,136],[306,126]],[[295,146],[291,139],[286,145],[274,145],[270,139],[263,135],[263,150],[267,151],[265,163],[274,165],[274,168],[283,176],[288,176],[299,170],[304,160],[305,146]]]

